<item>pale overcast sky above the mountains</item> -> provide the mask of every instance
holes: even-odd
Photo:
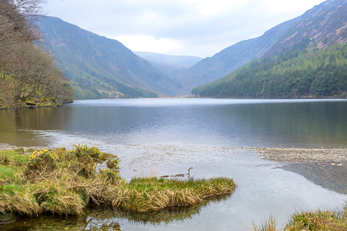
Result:
[[[132,51],[206,58],[323,0],[48,0],[44,12]]]

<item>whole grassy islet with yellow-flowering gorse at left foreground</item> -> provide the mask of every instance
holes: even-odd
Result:
[[[174,180],[119,175],[117,155],[75,146],[54,150],[23,148],[0,151],[0,224],[19,216],[79,215],[87,205],[107,205],[132,212],[190,206],[220,194],[231,194],[230,178]],[[102,171],[98,164],[107,168]]]

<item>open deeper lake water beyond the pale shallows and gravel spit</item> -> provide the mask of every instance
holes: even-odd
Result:
[[[0,111],[0,143],[57,146],[74,136],[108,144],[346,148],[346,105],[341,100],[76,101],[20,110],[15,118]]]

